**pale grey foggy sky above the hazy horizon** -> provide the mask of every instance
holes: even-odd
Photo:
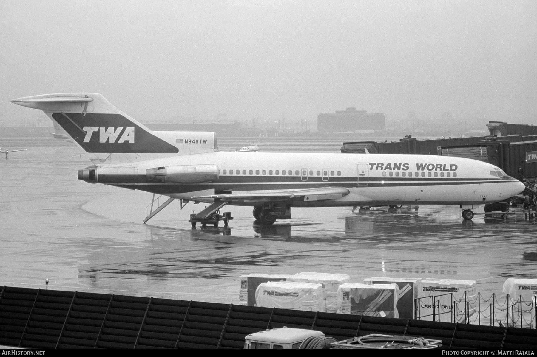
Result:
[[[142,123],[356,107],[537,124],[537,2],[3,0],[0,125],[49,125],[9,100],[62,92]]]

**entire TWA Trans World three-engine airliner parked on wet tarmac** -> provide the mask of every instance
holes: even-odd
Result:
[[[80,180],[216,206],[253,206],[262,224],[291,218],[291,207],[397,204],[459,205],[463,218],[472,219],[476,205],[524,190],[490,163],[456,157],[217,152],[213,133],[150,131],[97,93],[12,102],[45,111],[86,152],[148,159],[93,165],[78,171]]]

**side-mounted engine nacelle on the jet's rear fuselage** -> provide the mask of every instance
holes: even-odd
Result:
[[[146,170],[149,180],[172,183],[201,183],[218,180],[219,170],[214,164],[161,166]]]

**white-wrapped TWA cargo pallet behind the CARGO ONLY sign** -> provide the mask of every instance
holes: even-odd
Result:
[[[475,280],[423,279],[418,282],[419,306],[416,318],[425,321],[465,322],[475,313],[477,304]],[[465,293],[467,306],[465,306]],[[434,311],[432,305],[434,296]],[[452,310],[452,303],[454,309]]]

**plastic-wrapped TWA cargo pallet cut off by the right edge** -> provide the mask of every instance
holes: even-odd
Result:
[[[537,279],[505,280],[503,292],[509,294],[509,303],[513,305],[510,310],[510,321],[515,321],[516,327],[534,328],[535,306],[537,305]],[[522,311],[522,314],[520,314]]]

